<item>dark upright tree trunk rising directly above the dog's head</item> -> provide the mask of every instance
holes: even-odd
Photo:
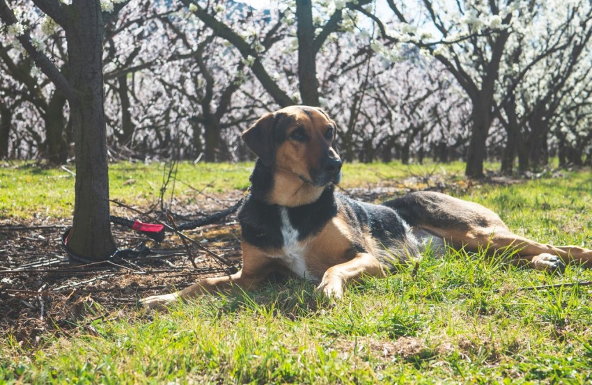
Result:
[[[316,54],[314,51],[315,29],[311,0],[296,0],[298,20],[298,80],[302,104],[319,106]]]

